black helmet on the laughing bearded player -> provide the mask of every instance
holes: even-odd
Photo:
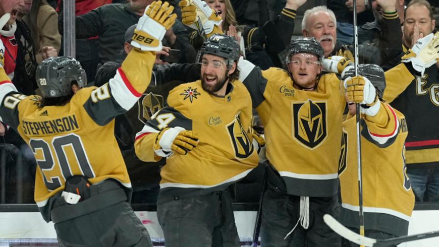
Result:
[[[212,54],[229,60],[228,69],[239,59],[239,44],[235,37],[224,34],[213,34],[198,51],[197,61],[201,63],[204,54]]]

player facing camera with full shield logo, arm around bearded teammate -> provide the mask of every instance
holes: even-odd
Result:
[[[261,71],[246,60],[239,62],[267,144],[263,246],[340,246],[340,237],[321,217],[338,217],[340,210],[336,144],[346,100],[337,76],[321,74],[323,56],[317,40],[299,38],[288,49],[289,71]]]

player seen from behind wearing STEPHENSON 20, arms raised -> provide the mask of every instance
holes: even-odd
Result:
[[[38,67],[42,98],[17,92],[0,68],[0,120],[34,152],[35,202],[44,220],[54,223],[61,246],[152,246],[129,205],[131,182],[113,135],[114,118],[147,88],[154,51],[175,22],[173,9],[161,1],[147,8],[131,43],[136,48],[99,88],[81,89],[85,72],[67,56]]]

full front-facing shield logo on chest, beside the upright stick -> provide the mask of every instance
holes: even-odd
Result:
[[[326,139],[326,102],[293,103],[293,137],[309,149]]]

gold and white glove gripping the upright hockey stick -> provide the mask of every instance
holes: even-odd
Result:
[[[366,77],[356,76],[345,79],[344,86],[348,102],[360,104],[361,113],[374,116],[379,111],[380,104],[376,89]]]

